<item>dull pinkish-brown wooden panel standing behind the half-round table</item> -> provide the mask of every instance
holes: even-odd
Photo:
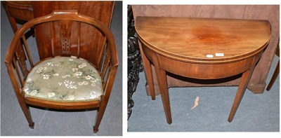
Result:
[[[186,18],[230,18],[244,20],[268,20],[271,25],[271,39],[268,48],[263,53],[261,60],[254,70],[254,74],[248,85],[248,89],[254,93],[263,93],[266,88],[266,78],[270,69],[280,32],[279,5],[133,5],[133,16],[154,16],[154,17],[186,17]],[[154,67],[152,67],[152,70]],[[159,88],[155,72],[152,71],[155,83],[155,94],[159,95]],[[209,82],[192,78],[183,78],[168,74],[169,87],[179,86],[219,86],[238,85],[240,76],[224,78],[222,80],[211,80]],[[207,84],[211,83],[211,84]],[[147,90],[148,90],[147,86]],[[148,92],[148,95],[150,93]]]

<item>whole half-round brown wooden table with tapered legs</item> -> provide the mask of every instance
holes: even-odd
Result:
[[[167,72],[208,82],[242,74],[228,117],[231,122],[254,67],[268,45],[270,23],[267,20],[137,17],[135,24],[144,53],[145,76],[152,86],[153,64],[167,123],[172,122]],[[155,99],[153,87],[149,88]]]

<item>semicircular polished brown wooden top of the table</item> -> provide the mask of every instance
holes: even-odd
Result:
[[[263,50],[271,34],[267,20],[138,16],[135,24],[145,46],[185,62],[243,60]]]

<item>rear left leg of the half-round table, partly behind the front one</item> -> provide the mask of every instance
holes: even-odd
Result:
[[[151,70],[151,63],[148,60],[148,57],[145,56],[143,53],[143,49],[140,46],[141,50],[141,56],[143,57],[143,66],[145,69],[145,76],[146,76],[146,81],[148,81],[148,88],[150,90],[150,96],[151,99],[155,99],[155,91],[154,91],[154,84],[153,84],[153,78],[152,78],[152,70]]]

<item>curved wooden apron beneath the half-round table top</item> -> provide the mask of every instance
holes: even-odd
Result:
[[[244,60],[220,64],[204,64],[174,60],[155,53],[145,45],[142,45],[142,48],[145,56],[148,57],[148,60],[155,66],[169,71],[172,74],[199,79],[226,78],[241,74],[250,69],[252,64],[256,64],[256,60],[259,59],[262,54],[262,51],[260,51],[256,53],[256,55]]]

